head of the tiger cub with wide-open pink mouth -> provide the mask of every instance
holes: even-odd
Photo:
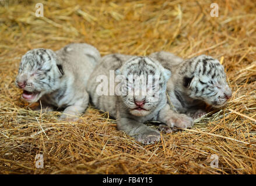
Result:
[[[63,75],[58,58],[50,49],[33,49],[22,56],[15,84],[23,90],[22,98],[37,102],[44,94],[57,89]]]

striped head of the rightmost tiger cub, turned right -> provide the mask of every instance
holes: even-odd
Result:
[[[220,108],[232,96],[223,66],[211,56],[200,55],[186,60],[179,74],[183,76],[183,86],[190,98]]]

